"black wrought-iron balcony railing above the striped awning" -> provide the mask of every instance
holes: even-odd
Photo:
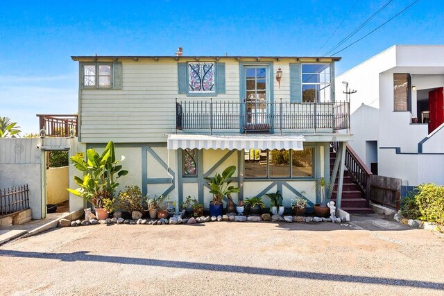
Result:
[[[176,131],[333,132],[350,128],[350,103],[177,101]]]

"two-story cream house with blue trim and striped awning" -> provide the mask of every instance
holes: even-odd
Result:
[[[240,188],[235,202],[279,190],[284,206],[296,196],[311,206],[321,202],[316,180],[337,177],[341,187],[341,151],[352,135],[348,103],[334,100],[340,58],[179,51],[72,59],[80,73],[78,141],[99,150],[114,141],[130,171],[121,183],[144,194],[176,204],[194,195],[208,208],[204,177],[230,165]],[[342,157],[330,164],[332,141]],[[340,204],[341,191],[333,194]]]

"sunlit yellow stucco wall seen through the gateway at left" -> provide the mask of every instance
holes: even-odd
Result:
[[[69,200],[69,167],[46,170],[46,204],[59,204]]]

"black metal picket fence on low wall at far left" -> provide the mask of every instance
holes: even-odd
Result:
[[[29,209],[28,184],[0,190],[0,218]]]

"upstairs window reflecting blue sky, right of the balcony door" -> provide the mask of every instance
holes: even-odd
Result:
[[[330,101],[330,64],[302,64],[302,102]]]

